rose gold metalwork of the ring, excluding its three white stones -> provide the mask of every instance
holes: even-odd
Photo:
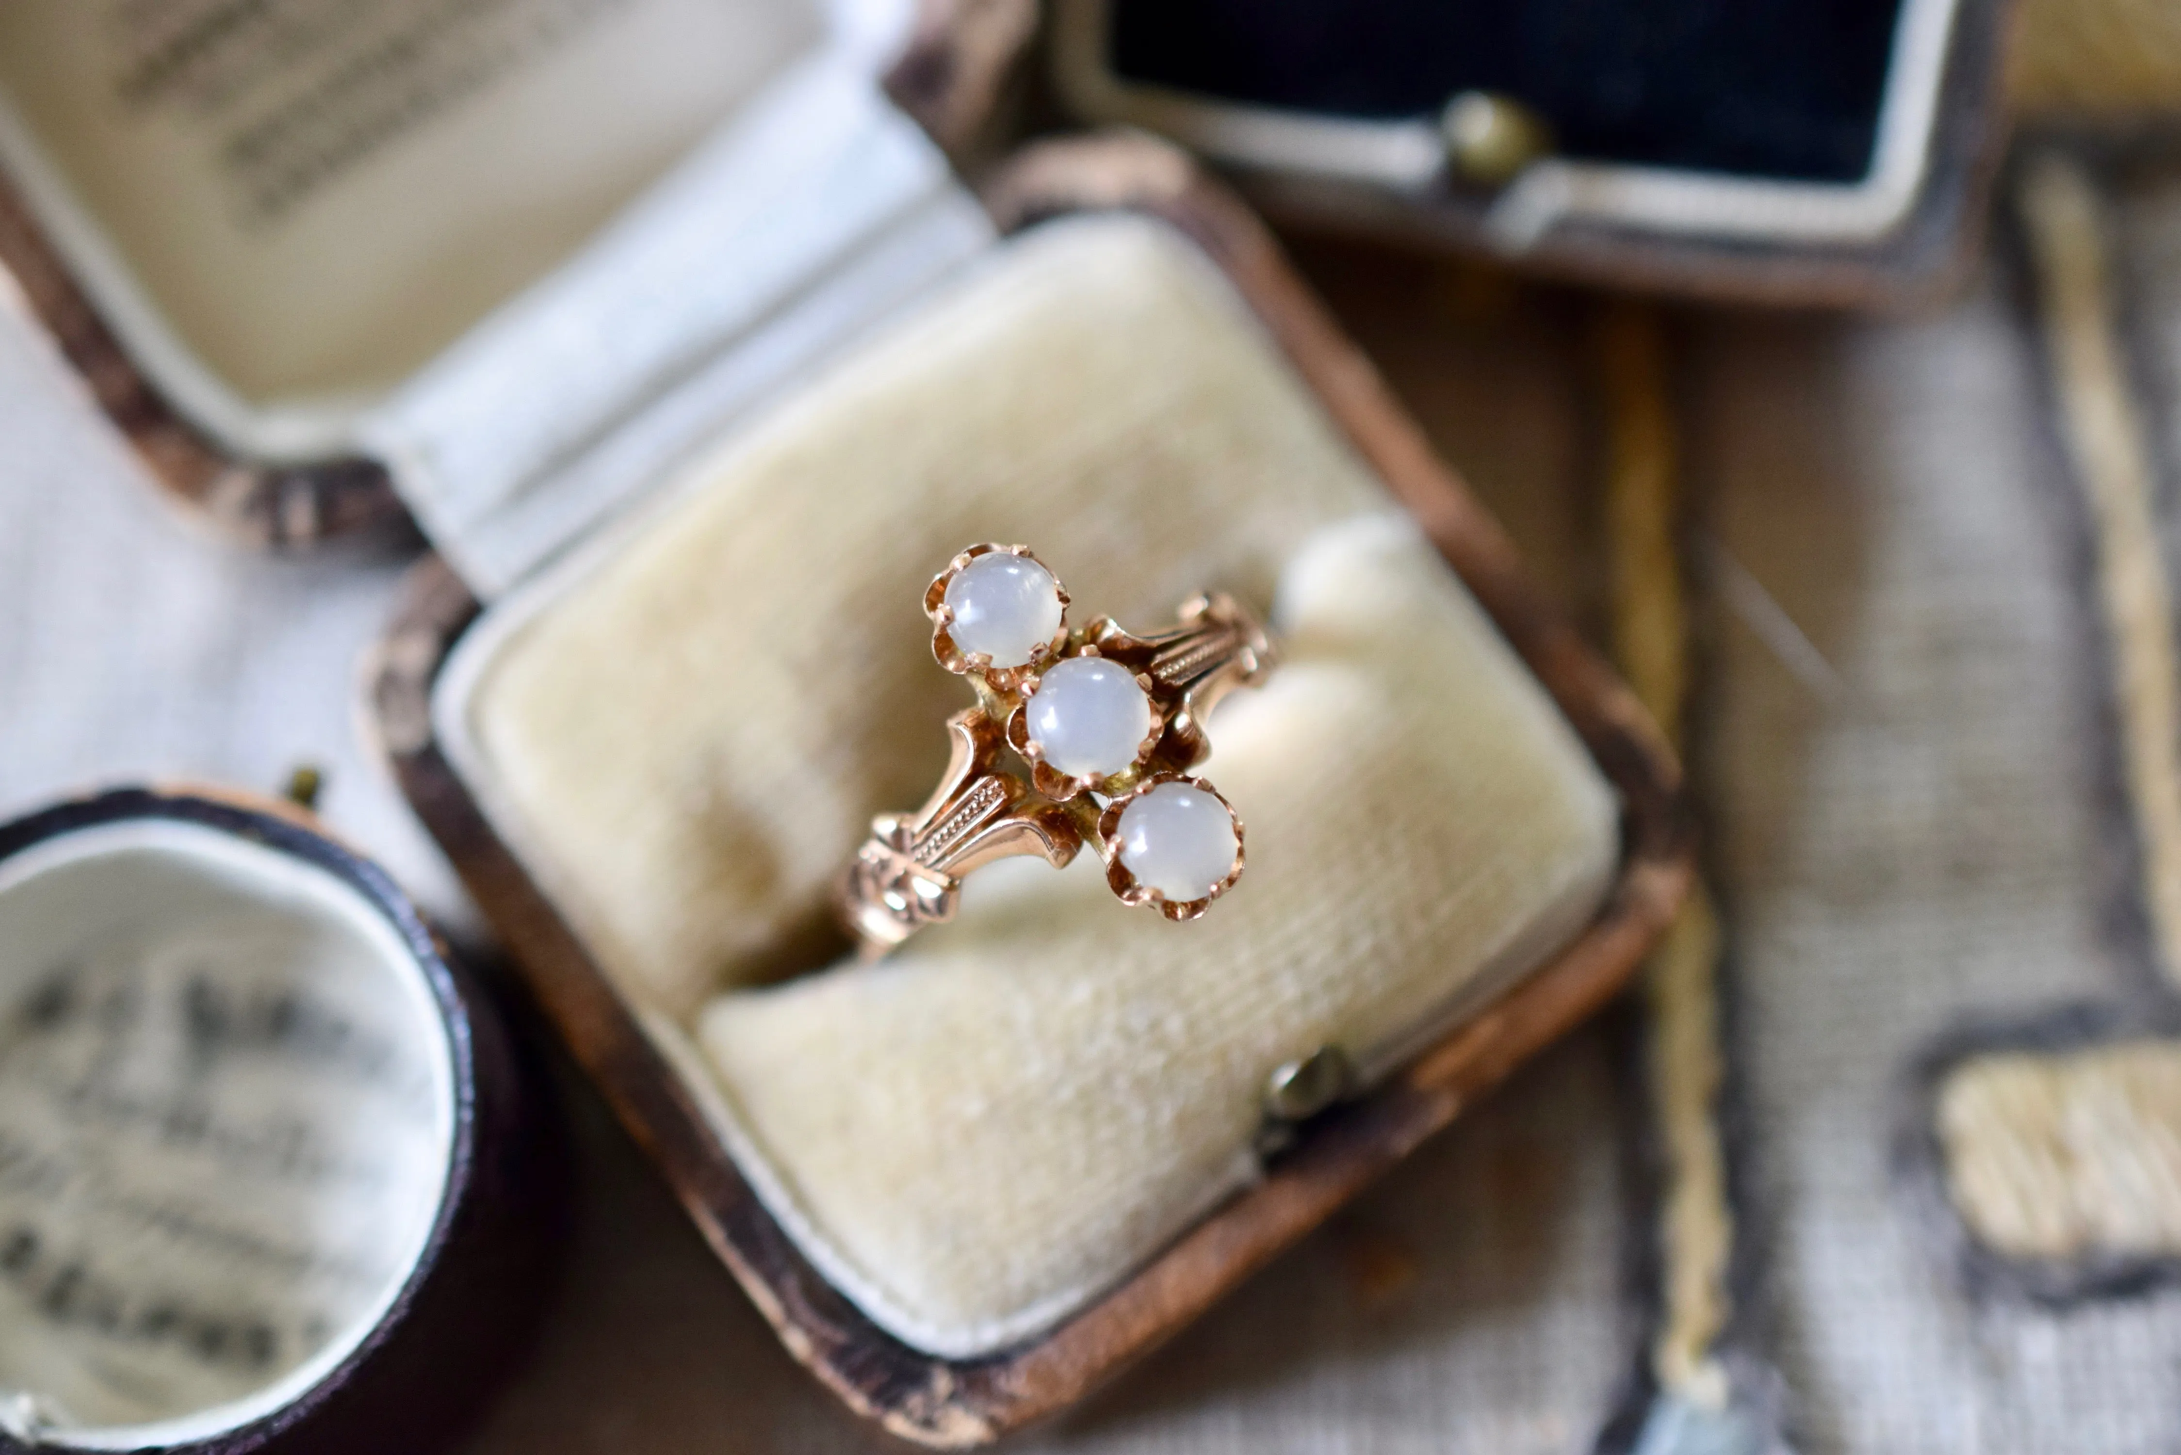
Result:
[[[992,552],[1034,561],[1060,591],[1060,630],[1019,668],[995,668],[986,652],[964,654],[949,633],[953,611],[947,606],[947,587],[971,561]],[[1123,905],[1154,905],[1169,921],[1197,918],[1241,879],[1241,816],[1217,787],[1186,772],[1210,755],[1204,718],[1213,707],[1237,687],[1261,683],[1278,663],[1269,635],[1228,596],[1191,598],[1171,630],[1147,637],[1123,630],[1112,617],[1097,617],[1088,628],[1071,633],[1067,609],[1069,593],[1060,587],[1060,574],[1027,545],[971,545],[925,591],[931,654],[942,668],[971,681],[977,707],[947,720],[953,753],[925,807],[907,816],[875,818],[870,838],[840,881],[840,918],[857,936],[866,960],[885,955],[925,925],[951,921],[962,879],[1012,855],[1034,853],[1053,868],[1064,868],[1084,844],[1097,844],[1114,899]],[[1071,657],[1119,663],[1152,700],[1152,731],[1138,744],[1136,761],[1119,774],[1077,779],[1056,772],[1029,737],[1023,707],[1036,696],[1045,672]],[[1003,750],[1010,748],[1019,768],[1003,761]],[[1121,811],[1160,783],[1208,792],[1234,820],[1234,868],[1204,899],[1169,901],[1138,883],[1121,862]]]

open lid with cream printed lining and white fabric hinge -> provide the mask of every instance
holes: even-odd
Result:
[[[397,515],[390,484],[495,593],[990,242],[918,122],[973,129],[1021,4],[301,11],[0,22],[0,264],[253,539]]]

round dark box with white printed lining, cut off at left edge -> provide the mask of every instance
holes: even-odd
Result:
[[[0,827],[0,1451],[425,1451],[515,1352],[550,1126],[491,999],[299,809]]]

